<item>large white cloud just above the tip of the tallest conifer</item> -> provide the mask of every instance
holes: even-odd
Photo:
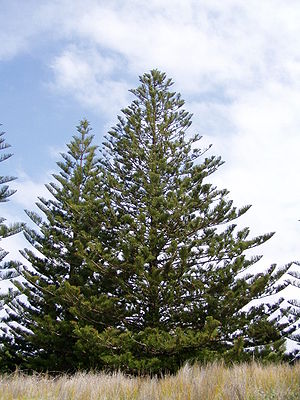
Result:
[[[67,35],[122,55],[133,74],[166,69],[192,92],[221,84],[232,93],[236,84],[259,84],[278,74],[299,44],[297,26],[290,26],[299,7],[283,2],[89,4],[63,23]]]

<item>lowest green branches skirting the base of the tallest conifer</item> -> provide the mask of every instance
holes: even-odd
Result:
[[[77,352],[88,357],[82,357],[80,367],[99,369],[105,366],[137,375],[175,372],[187,359],[208,362],[217,358],[217,353],[209,346],[217,337],[218,326],[212,318],[207,318],[201,332],[182,328],[167,332],[148,327],[134,333],[109,327],[99,333],[93,327],[85,326],[75,331]]]

